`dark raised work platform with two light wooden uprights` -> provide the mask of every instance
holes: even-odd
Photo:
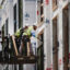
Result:
[[[26,55],[20,55],[18,47],[16,47],[14,36],[12,35],[9,38],[7,36],[7,37],[4,37],[4,39],[9,39],[9,46],[7,46],[9,48],[9,50],[7,50],[9,54],[8,54],[8,56],[5,54],[3,54],[0,63],[10,63],[10,65],[15,63],[16,65],[16,63],[36,63],[37,62],[37,58],[38,58],[37,55],[31,55],[30,42],[26,43],[26,48],[27,48]],[[11,39],[12,39],[13,45],[11,45]],[[5,44],[8,44],[8,43],[5,43]],[[13,50],[11,49],[11,47],[13,48]],[[35,48],[35,50],[36,50],[36,48]]]

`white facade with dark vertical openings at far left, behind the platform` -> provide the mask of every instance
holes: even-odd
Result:
[[[0,4],[2,7],[1,13],[1,22],[0,26],[2,30],[2,37],[8,36],[8,34],[13,35],[16,30],[19,30],[22,26],[22,16],[19,11],[21,10],[21,7],[19,4],[21,3],[18,0],[1,0]],[[20,19],[20,20],[19,20]],[[19,24],[20,22],[20,24]],[[1,70],[23,70],[23,65],[0,65]]]

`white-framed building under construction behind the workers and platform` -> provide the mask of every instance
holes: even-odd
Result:
[[[2,65],[1,70],[70,70],[70,1],[1,0],[1,36],[13,35],[20,27],[35,24],[37,62]],[[1,37],[1,40],[2,40]],[[3,49],[1,47],[1,49]]]

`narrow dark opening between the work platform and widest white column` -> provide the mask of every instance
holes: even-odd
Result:
[[[43,44],[37,48],[37,70],[44,70],[44,33],[42,33],[38,37]]]

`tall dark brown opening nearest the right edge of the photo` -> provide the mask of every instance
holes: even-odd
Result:
[[[63,70],[69,70],[69,15],[68,5],[62,10],[62,30],[63,30]]]

